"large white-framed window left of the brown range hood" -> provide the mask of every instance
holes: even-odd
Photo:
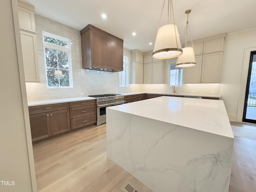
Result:
[[[72,88],[70,39],[43,32],[47,88]]]

